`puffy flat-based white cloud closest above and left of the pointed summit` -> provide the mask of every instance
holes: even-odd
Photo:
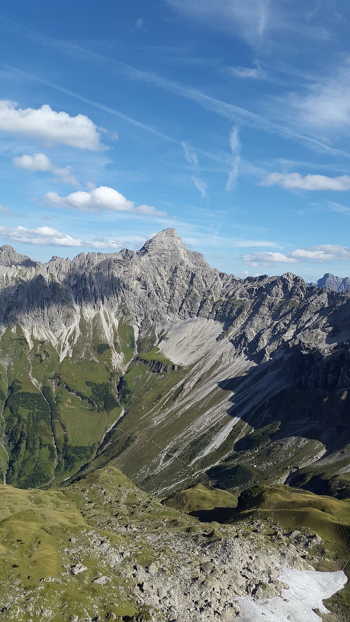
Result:
[[[43,198],[43,205],[95,213],[107,210],[129,211],[134,214],[146,214],[149,216],[166,216],[166,212],[158,211],[151,205],[135,207],[132,201],[108,186],[100,186],[90,190],[90,192],[78,190],[67,195],[67,197],[60,197],[57,192],[47,192]]]

